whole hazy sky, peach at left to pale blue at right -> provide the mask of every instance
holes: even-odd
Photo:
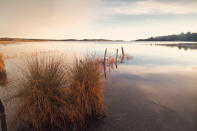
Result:
[[[0,0],[0,37],[135,40],[197,32],[197,0]]]

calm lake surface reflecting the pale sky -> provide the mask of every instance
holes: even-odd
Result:
[[[23,42],[0,44],[8,81],[17,81],[16,64],[35,52],[60,52],[65,60],[96,53],[115,56],[121,47],[132,59],[111,70],[105,79],[106,117],[91,131],[197,130],[197,50],[156,46],[185,42]],[[186,42],[188,43],[188,42]],[[16,91],[0,87],[7,121],[15,110]]]

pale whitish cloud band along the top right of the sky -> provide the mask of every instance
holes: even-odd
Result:
[[[123,1],[113,4],[108,9],[109,14],[141,15],[141,14],[197,14],[195,1]]]

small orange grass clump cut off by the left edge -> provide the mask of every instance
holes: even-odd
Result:
[[[3,61],[3,55],[0,53],[0,84],[6,84],[7,75],[5,70],[5,64]]]

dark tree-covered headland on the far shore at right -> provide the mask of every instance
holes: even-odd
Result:
[[[138,39],[136,41],[197,41],[197,33],[181,33],[178,35],[150,37],[148,39]]]

